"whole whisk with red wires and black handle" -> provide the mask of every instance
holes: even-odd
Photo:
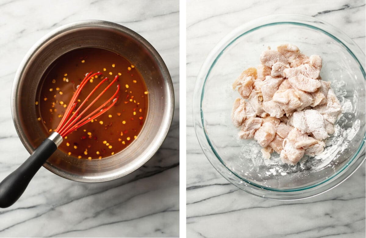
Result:
[[[100,97],[118,80],[116,76],[104,90],[98,94],[91,103],[88,101],[94,95],[98,88],[108,80],[104,78],[99,82],[99,84],[89,93],[85,100],[80,102],[78,105],[78,97],[85,87],[87,82],[96,75],[102,73],[88,73],[86,77],[81,81],[80,85],[76,88],[74,95],[72,96],[70,103],[68,104],[66,111],[61,119],[59,126],[56,128],[47,139],[45,139],[40,146],[30,155],[30,157],[19,166],[14,172],[9,174],[0,183],[0,207],[9,207],[15,203],[16,200],[23,194],[30,180],[33,178],[34,174],[41,168],[41,166],[46,162],[46,160],[57,150],[57,147],[62,143],[63,138],[70,134],[72,131],[78,129],[79,127],[85,125],[91,120],[96,119],[98,116],[104,114],[116,104],[119,92],[119,84],[117,84],[117,90],[107,101],[103,101],[100,106],[94,111],[90,112],[86,116],[87,111],[96,103],[98,103]],[[108,105],[109,104],[109,105]]]

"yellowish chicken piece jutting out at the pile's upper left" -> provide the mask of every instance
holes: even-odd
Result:
[[[240,96],[247,99],[253,90],[253,83],[257,78],[257,69],[249,68],[243,71],[242,74],[235,80],[232,88],[238,87],[238,92]]]

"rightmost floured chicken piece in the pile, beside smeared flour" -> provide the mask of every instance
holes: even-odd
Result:
[[[324,116],[324,119],[332,124],[336,123],[337,117],[342,111],[341,104],[332,88],[329,88],[328,94],[326,95],[326,104],[314,107],[314,109],[320,112]]]

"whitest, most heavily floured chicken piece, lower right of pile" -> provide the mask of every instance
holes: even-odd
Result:
[[[328,137],[325,131],[323,116],[316,110],[306,110],[304,112],[307,124],[307,133],[312,133],[315,139],[323,140]],[[295,123],[295,118],[294,118]]]

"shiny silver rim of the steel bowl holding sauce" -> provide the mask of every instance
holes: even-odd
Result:
[[[43,165],[44,168],[48,169],[52,173],[55,173],[59,175],[60,177],[67,178],[69,180],[73,181],[79,181],[79,182],[85,182],[85,183],[100,183],[100,182],[106,182],[115,180],[117,178],[126,176],[127,174],[130,174],[134,172],[135,170],[139,169],[141,166],[143,166],[147,161],[150,160],[150,158],[153,157],[154,154],[156,154],[157,150],[161,147],[163,144],[165,138],[167,137],[169,128],[171,126],[172,120],[173,120],[173,113],[174,113],[174,90],[173,90],[173,82],[171,80],[171,76],[169,74],[168,68],[165,65],[165,62],[163,61],[163,58],[161,58],[160,54],[157,52],[157,50],[141,35],[139,35],[137,32],[131,30],[130,28],[127,28],[125,26],[122,26],[117,23],[108,22],[105,20],[80,20],[76,22],[71,22],[68,24],[64,24],[60,27],[55,28],[54,30],[48,32],[46,35],[44,35],[42,38],[40,38],[26,53],[26,55],[23,57],[23,60],[20,62],[18,70],[15,73],[15,79],[12,85],[12,92],[11,92],[11,112],[12,112],[12,118],[13,123],[16,129],[16,132],[22,141],[23,145],[26,147],[27,151],[29,153],[33,153],[33,149],[30,145],[27,145],[25,141],[25,134],[22,132],[20,127],[20,118],[18,111],[16,110],[16,95],[18,93],[19,84],[20,84],[20,76],[23,73],[24,68],[28,64],[31,57],[33,57],[34,53],[40,49],[45,43],[52,40],[54,37],[56,37],[59,34],[62,34],[67,31],[75,30],[81,27],[100,27],[101,29],[113,29],[120,32],[123,32],[124,34],[129,35],[130,37],[136,39],[137,41],[141,42],[142,45],[148,50],[153,56],[154,59],[157,61],[157,65],[159,65],[161,73],[164,77],[164,81],[167,82],[167,89],[169,91],[169,97],[167,98],[167,103],[170,103],[168,105],[168,114],[164,118],[165,124],[163,130],[158,133],[156,137],[156,141],[154,142],[154,146],[152,149],[149,149],[146,152],[145,160],[138,161],[137,164],[130,167],[128,170],[125,170],[121,168],[118,173],[113,172],[109,173],[105,176],[75,176],[74,174],[65,173],[62,170],[57,169],[55,166],[45,163]]]

